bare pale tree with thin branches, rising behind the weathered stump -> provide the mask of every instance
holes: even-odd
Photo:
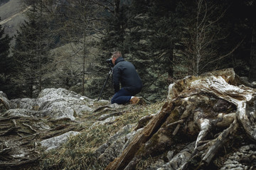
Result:
[[[226,8],[220,9],[215,2],[206,0],[195,1],[195,11],[191,13],[190,20],[193,23],[188,26],[188,33],[191,36],[186,42],[188,72],[194,76],[215,69],[218,60],[230,55],[219,56],[218,47],[215,44],[225,39],[225,35],[218,26],[220,18],[223,18]],[[191,21],[190,21],[191,22]]]

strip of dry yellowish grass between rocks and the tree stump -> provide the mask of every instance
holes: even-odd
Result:
[[[109,137],[128,124],[137,123],[140,118],[159,111],[163,102],[148,106],[127,106],[124,114],[112,124],[97,125],[90,128],[93,122],[83,123],[85,130],[80,135],[71,137],[68,142],[59,149],[43,154],[41,169],[104,169],[97,162],[95,149],[104,144]]]

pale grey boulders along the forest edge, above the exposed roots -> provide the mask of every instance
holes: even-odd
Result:
[[[37,118],[61,119],[75,117],[93,111],[94,101],[66,89],[44,89],[38,98],[18,98],[9,101],[2,95],[2,103],[8,115],[24,115]],[[108,101],[102,101],[109,103]],[[14,109],[14,110],[11,110]],[[20,109],[20,110],[17,110]],[[18,112],[17,112],[18,111]]]

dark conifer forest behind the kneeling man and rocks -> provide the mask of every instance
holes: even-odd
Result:
[[[9,98],[35,98],[53,87],[98,98],[115,50],[137,68],[139,95],[149,102],[166,98],[176,79],[215,69],[233,67],[256,81],[254,0],[22,3],[26,21],[16,35],[0,25],[0,90]],[[102,98],[113,93],[110,79]]]

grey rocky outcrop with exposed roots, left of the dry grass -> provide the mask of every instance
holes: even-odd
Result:
[[[0,169],[35,164],[42,149],[56,149],[80,134],[80,118],[104,105],[112,108],[110,101],[92,100],[66,89],[44,89],[38,98],[14,100],[0,91]]]

